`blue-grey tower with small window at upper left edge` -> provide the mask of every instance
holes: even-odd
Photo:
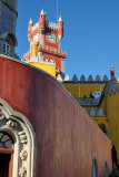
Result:
[[[16,58],[17,0],[0,0],[0,53]]]

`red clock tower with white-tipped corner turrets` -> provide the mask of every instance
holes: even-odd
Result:
[[[65,59],[67,54],[60,50],[60,42],[62,37],[63,22],[61,17],[59,18],[58,23],[53,23],[46,20],[46,13],[43,10],[41,10],[39,21],[33,24],[32,20],[30,19],[28,24],[28,40],[30,42],[30,51],[23,55],[23,61],[36,66],[40,66],[41,64],[54,65],[54,76],[63,77]],[[48,70],[50,71],[49,67]]]

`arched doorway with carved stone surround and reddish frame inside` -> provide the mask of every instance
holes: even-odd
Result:
[[[0,177],[34,177],[36,143],[29,119],[0,98]]]

